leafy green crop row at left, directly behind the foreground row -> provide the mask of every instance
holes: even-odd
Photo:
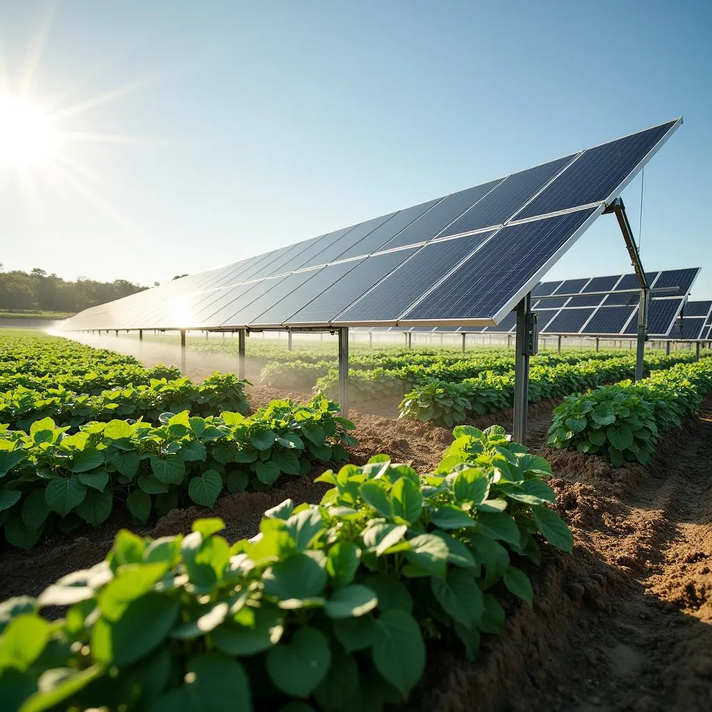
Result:
[[[317,462],[347,459],[353,425],[323,397],[273,401],[250,417],[165,413],[157,427],[115,419],[68,434],[52,419],[29,432],[0,426],[0,524],[12,545],[31,548],[54,528],[102,523],[127,508],[145,523],[190,501],[212,507],[221,491],[272,486]]]

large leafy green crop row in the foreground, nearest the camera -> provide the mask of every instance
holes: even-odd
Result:
[[[284,501],[234,545],[219,519],[122,530],[105,562],[0,605],[3,708],[377,712],[422,678],[426,639],[474,659],[506,590],[532,603],[518,562],[572,536],[544,459],[503,429],[455,434],[436,473],[328,471],[319,505]]]

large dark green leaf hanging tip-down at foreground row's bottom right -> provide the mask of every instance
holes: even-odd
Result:
[[[373,661],[379,673],[405,699],[425,669],[425,645],[415,619],[391,609],[376,621]]]

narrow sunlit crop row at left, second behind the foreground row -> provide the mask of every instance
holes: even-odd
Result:
[[[164,412],[207,416],[223,411],[245,414],[246,381],[234,374],[215,372],[200,385],[182,377],[152,379],[148,385],[127,385],[98,395],[78,393],[63,387],[34,390],[18,386],[0,393],[0,423],[10,429],[27,430],[34,421],[51,418],[58,426],[72,428],[90,421],[143,418],[155,423]]]

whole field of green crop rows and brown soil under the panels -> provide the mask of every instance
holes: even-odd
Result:
[[[535,357],[528,451],[511,351],[334,356],[0,332],[0,708],[707,708],[712,359]]]

